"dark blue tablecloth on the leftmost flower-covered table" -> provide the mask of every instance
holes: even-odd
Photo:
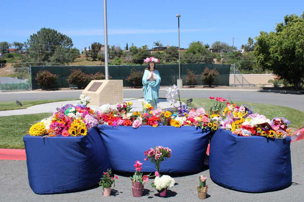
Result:
[[[23,137],[29,186],[36,194],[92,187],[111,168],[96,127],[86,136],[41,137]]]

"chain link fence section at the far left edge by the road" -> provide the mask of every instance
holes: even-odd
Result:
[[[0,68],[0,91],[31,90],[29,68]]]

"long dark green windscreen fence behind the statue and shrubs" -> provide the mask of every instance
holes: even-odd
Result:
[[[178,64],[173,65],[156,65],[161,75],[161,85],[173,85],[176,84],[176,80],[179,78],[179,66]],[[216,77],[212,85],[225,85],[229,86],[229,72],[230,65],[222,64],[181,64],[181,79],[183,84],[186,83],[187,69],[194,70],[197,72],[197,85],[203,85],[201,80],[202,71],[208,67],[209,69],[216,69],[219,75]],[[123,86],[132,86],[126,81],[127,76],[130,75],[130,70],[135,68],[136,70],[144,71],[147,65],[113,65],[109,66],[109,75],[112,76],[113,80],[123,80]],[[85,74],[95,74],[96,72],[105,72],[105,66],[32,66],[32,84],[33,89],[41,88],[35,80],[36,73],[40,70],[48,70],[52,74],[58,75],[58,80],[52,85],[53,88],[72,88],[74,85],[67,83],[67,77],[71,74],[71,69],[81,69]],[[139,83],[138,86],[142,84]]]

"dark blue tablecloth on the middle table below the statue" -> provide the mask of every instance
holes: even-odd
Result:
[[[144,151],[154,146],[169,147],[172,157],[163,161],[160,172],[187,173],[202,169],[208,143],[209,130],[195,130],[194,126],[130,126],[99,125],[99,131],[109,154],[113,170],[134,172],[135,161],[143,163],[142,171],[154,172],[155,166],[144,161]]]

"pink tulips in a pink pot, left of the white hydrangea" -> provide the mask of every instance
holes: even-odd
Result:
[[[132,180],[132,192],[133,192],[133,197],[141,197],[143,195],[143,185],[146,184],[148,181],[149,175],[144,175],[140,172],[141,171],[141,165],[139,161],[135,161],[134,167],[135,167],[135,173],[133,177],[130,177]]]

